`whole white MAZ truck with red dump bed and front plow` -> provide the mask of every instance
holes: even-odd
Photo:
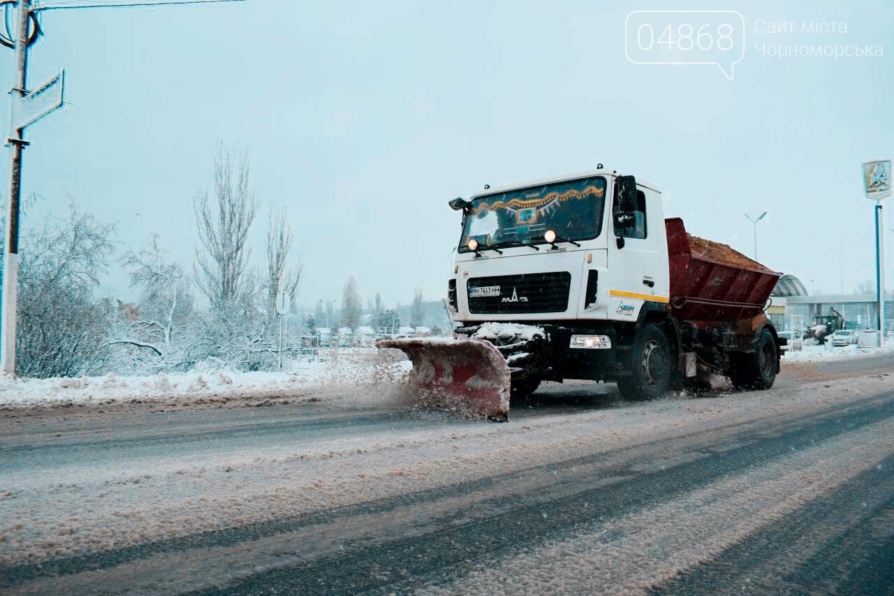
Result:
[[[781,274],[665,219],[653,184],[600,165],[449,204],[454,335],[378,343],[409,355],[426,395],[507,421],[543,380],[613,381],[631,400],[708,373],[772,387]]]

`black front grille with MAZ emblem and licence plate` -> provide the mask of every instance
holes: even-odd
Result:
[[[568,310],[568,271],[520,276],[472,277],[468,280],[468,311],[564,312]]]

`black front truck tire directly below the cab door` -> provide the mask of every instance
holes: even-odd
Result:
[[[620,395],[629,400],[661,397],[671,385],[671,348],[654,324],[637,331],[630,353],[630,376],[618,379]]]

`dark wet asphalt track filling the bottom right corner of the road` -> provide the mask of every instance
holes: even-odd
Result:
[[[655,590],[881,594],[894,586],[894,456]]]

